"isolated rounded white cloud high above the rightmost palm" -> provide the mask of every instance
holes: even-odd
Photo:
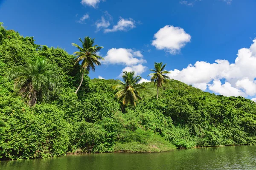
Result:
[[[177,54],[190,40],[191,36],[183,28],[167,25],[154,34],[152,45],[170,54]]]

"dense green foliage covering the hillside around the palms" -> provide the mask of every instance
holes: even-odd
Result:
[[[58,91],[29,107],[7,75],[38,57],[57,68]],[[81,72],[74,63],[75,56],[61,48],[36,45],[33,37],[0,27],[0,159],[256,144],[256,103],[249,99],[167,80],[158,100],[154,82],[143,83],[143,100],[121,112],[116,80],[87,73],[75,94]]]

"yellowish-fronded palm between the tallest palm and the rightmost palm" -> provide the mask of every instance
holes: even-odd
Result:
[[[118,91],[115,96],[117,99],[119,99],[122,102],[122,110],[125,105],[132,105],[135,106],[138,99],[142,99],[140,96],[140,93],[137,91],[139,88],[145,88],[143,85],[138,84],[141,77],[136,76],[135,72],[123,72],[123,82],[121,80],[119,81],[119,85],[113,86],[113,89],[120,90]],[[122,111],[121,110],[121,111]]]

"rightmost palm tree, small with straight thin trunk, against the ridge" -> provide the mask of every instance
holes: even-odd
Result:
[[[163,65],[163,62],[155,62],[154,69],[150,69],[154,73],[149,74],[148,76],[151,77],[151,82],[154,82],[154,85],[157,83],[157,100],[158,100],[158,88],[163,87],[163,83],[166,82],[166,79],[170,79],[170,77],[166,76],[165,74],[169,74],[169,71],[164,71],[166,64]]]

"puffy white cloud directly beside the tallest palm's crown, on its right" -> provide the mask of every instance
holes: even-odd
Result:
[[[139,58],[138,58],[139,57]],[[126,48],[111,48],[102,61],[103,64],[137,65],[145,63],[143,55],[138,51]]]

